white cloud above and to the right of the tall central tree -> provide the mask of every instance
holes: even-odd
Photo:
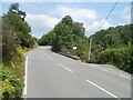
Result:
[[[86,36],[94,33],[103,22],[103,19],[98,20],[99,17],[98,12],[91,9],[69,8],[64,6],[58,6],[54,10],[52,10],[51,13],[53,16],[57,14],[61,18],[63,18],[66,14],[70,14],[74,21],[83,22],[84,27],[86,28]],[[111,19],[109,19],[109,21],[105,21],[102,29],[106,29],[111,27],[112,24],[110,23],[110,21]]]

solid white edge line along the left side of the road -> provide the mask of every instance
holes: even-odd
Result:
[[[28,82],[28,57],[25,57],[25,70],[24,70],[24,89],[23,89],[23,98],[27,98],[27,82]]]

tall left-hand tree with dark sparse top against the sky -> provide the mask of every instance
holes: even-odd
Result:
[[[27,21],[23,20],[27,14],[25,12],[19,10],[19,4],[18,3],[11,4],[10,10],[6,16],[8,17],[8,20],[10,24],[13,27],[13,29],[16,31],[19,31],[16,36],[21,41],[20,44],[27,48],[33,47],[35,40],[30,34],[31,32],[30,26],[28,24]]]

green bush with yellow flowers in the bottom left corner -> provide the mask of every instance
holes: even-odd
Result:
[[[2,100],[21,98],[22,82],[12,68],[2,67],[1,86],[2,89],[0,91],[2,92]]]

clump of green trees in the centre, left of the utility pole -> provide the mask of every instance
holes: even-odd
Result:
[[[79,50],[83,49],[84,44],[79,44],[80,41],[84,41],[85,28],[83,23],[73,22],[70,16],[65,16],[62,20],[54,26],[53,30],[43,34],[38,40],[40,46],[52,46],[52,50],[60,52],[62,49],[72,49],[73,46],[78,46]],[[75,53],[81,54],[80,51]],[[85,52],[85,51],[82,51]]]

